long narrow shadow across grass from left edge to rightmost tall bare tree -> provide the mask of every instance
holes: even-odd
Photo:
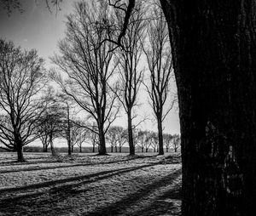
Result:
[[[109,177],[112,177],[113,175],[117,175],[119,173],[126,173],[126,172],[131,172],[137,169],[141,168],[148,168],[148,167],[153,167],[155,165],[158,165],[159,162],[155,162],[152,164],[147,164],[143,166],[138,166],[138,167],[131,167],[131,168],[120,168],[120,169],[114,169],[114,170],[108,170],[108,171],[102,171],[99,173],[91,173],[87,175],[79,175],[76,177],[70,177],[67,179],[56,179],[52,181],[46,181],[38,184],[32,184],[32,185],[26,185],[26,186],[21,186],[21,187],[12,187],[12,188],[3,188],[0,189],[0,193],[3,194],[4,192],[13,192],[13,191],[20,191],[20,190],[32,190],[32,189],[38,189],[38,188],[44,188],[44,187],[49,187],[53,185],[59,185],[59,184],[64,184],[64,183],[69,183],[73,181],[80,181],[79,184],[84,184],[84,182],[81,182],[81,180],[84,180],[88,183],[90,181],[96,181],[96,180],[101,180],[101,179],[106,179]],[[90,178],[94,178],[90,180]],[[96,178],[96,179],[95,179]],[[74,184],[74,185],[79,185],[79,184]],[[73,186],[73,185],[71,185]]]

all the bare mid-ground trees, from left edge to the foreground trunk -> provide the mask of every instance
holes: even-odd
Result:
[[[137,3],[119,47],[113,42],[123,26],[125,8],[115,6],[107,1],[75,3],[74,13],[67,16],[66,37],[59,43],[60,54],[51,58],[56,67],[50,71],[35,50],[22,51],[1,40],[0,138],[4,148],[18,152],[19,162],[24,161],[22,147],[35,139],[42,140],[44,151],[50,146],[55,154],[53,140],[65,137],[71,154],[73,145],[83,143],[84,129],[95,134],[99,154],[106,154],[108,129],[121,107],[134,155],[139,140],[134,107],[142,84],[158,124],[159,153],[164,154],[162,122],[173,105],[164,109],[172,77],[166,21],[159,7],[147,8],[154,14],[148,19],[143,2]],[[148,72],[139,64],[143,57]],[[50,82],[60,89],[50,88]],[[84,120],[73,121],[72,110],[84,111]]]

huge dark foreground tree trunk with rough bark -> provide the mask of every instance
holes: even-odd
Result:
[[[183,216],[254,215],[255,0],[160,2],[177,81]]]

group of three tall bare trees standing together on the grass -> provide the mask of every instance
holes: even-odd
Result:
[[[60,53],[51,60],[51,77],[61,91],[88,113],[90,129],[99,137],[99,154],[106,154],[106,134],[120,106],[127,116],[130,155],[135,154],[134,108],[142,84],[158,123],[159,153],[164,154],[162,122],[172,109],[164,108],[172,78],[172,54],[166,20],[154,4],[154,16],[147,17],[148,5],[137,3],[121,44],[116,44],[123,26],[126,4],[117,7],[109,1],[80,2],[67,16],[66,37],[59,43]],[[149,26],[149,27],[148,27]],[[139,62],[148,63],[148,73]],[[169,95],[170,96],[170,95]],[[173,99],[175,101],[175,99]]]

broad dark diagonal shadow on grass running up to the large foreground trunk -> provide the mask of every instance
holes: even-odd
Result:
[[[98,208],[95,212],[86,213],[84,215],[122,215],[125,209],[130,208],[133,204],[136,204],[139,200],[143,199],[144,196],[148,196],[153,190],[172,184],[172,181],[177,179],[181,175],[181,172],[181,169],[178,169],[174,173],[166,175],[165,178],[154,181],[152,184],[147,185],[143,189],[137,190],[136,192],[125,196],[119,202],[114,202],[107,207]]]

